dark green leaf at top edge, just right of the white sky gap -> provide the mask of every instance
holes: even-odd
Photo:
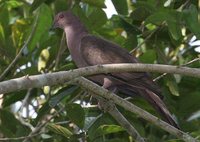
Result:
[[[121,15],[128,14],[127,0],[112,0],[112,3],[119,14]]]

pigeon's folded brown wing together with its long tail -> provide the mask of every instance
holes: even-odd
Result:
[[[120,46],[107,40],[85,36],[81,40],[80,51],[82,59],[88,66],[98,64],[112,63],[137,63],[138,60],[129,54],[128,51]],[[107,83],[104,80],[104,86],[108,89],[117,89],[127,95],[140,95],[145,98],[152,106],[165,118],[171,125],[178,128],[176,121],[167,110],[165,104],[158,97],[161,97],[161,91],[153,82],[150,75],[145,72],[122,72],[101,75],[100,78],[108,79]],[[94,77],[93,77],[94,79]],[[98,79],[97,79],[98,80]],[[158,96],[157,96],[158,95]]]

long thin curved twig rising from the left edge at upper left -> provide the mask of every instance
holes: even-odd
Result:
[[[38,19],[39,19],[39,14],[37,14],[36,16],[36,20],[35,23],[33,24],[33,28],[32,31],[28,37],[28,39],[26,40],[25,44],[23,45],[23,47],[20,49],[19,53],[17,54],[17,56],[15,57],[15,59],[9,64],[9,66],[4,70],[4,72],[1,74],[0,76],[0,81],[4,79],[4,77],[7,75],[7,73],[12,69],[12,67],[17,63],[17,61],[21,58],[23,50],[28,46],[29,42],[31,41],[34,33],[35,33],[35,29],[37,27],[37,23],[38,23]]]

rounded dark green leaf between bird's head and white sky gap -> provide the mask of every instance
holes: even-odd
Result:
[[[92,13],[88,16],[90,24],[94,29],[100,28],[107,21],[105,12],[100,8],[94,8]],[[99,20],[101,19],[101,20]]]

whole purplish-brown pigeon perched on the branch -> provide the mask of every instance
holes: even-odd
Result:
[[[55,16],[53,28],[61,28],[65,31],[70,54],[79,68],[98,64],[138,63],[136,57],[119,45],[90,35],[79,18],[70,11],[58,13]],[[128,96],[142,96],[163,116],[166,122],[178,127],[159,97],[161,96],[159,87],[148,73],[110,73],[95,75],[89,79],[111,91],[121,92]]]

